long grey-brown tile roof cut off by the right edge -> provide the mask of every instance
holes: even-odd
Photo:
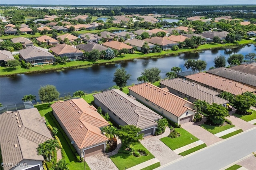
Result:
[[[216,76],[227,78],[229,80],[240,82],[241,84],[256,89],[256,75],[254,74],[248,74],[246,72],[241,72],[226,67],[215,68],[206,72],[214,74]]]

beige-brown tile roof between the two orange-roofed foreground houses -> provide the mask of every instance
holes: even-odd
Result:
[[[162,118],[162,116],[148,109],[138,101],[129,98],[127,94],[124,94],[120,90],[108,90],[94,94],[93,96],[127,125],[134,125],[140,129],[146,129],[157,125],[156,120]]]

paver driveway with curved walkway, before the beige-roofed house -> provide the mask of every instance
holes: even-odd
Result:
[[[160,138],[166,137],[166,135],[168,136],[170,134],[170,129],[168,129],[169,128],[166,129],[166,132],[163,135],[147,136],[140,141],[141,144],[160,161],[161,166],[182,157],[159,140]]]

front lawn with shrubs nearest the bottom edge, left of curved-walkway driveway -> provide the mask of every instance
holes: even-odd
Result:
[[[135,150],[146,149],[142,144],[134,145],[133,147]],[[123,153],[117,153],[110,157],[110,159],[114,162],[114,164],[117,166],[119,170],[125,170],[127,168],[138,165],[152,158],[154,158],[154,156],[150,152],[149,155],[140,156],[138,158],[136,156]]]

